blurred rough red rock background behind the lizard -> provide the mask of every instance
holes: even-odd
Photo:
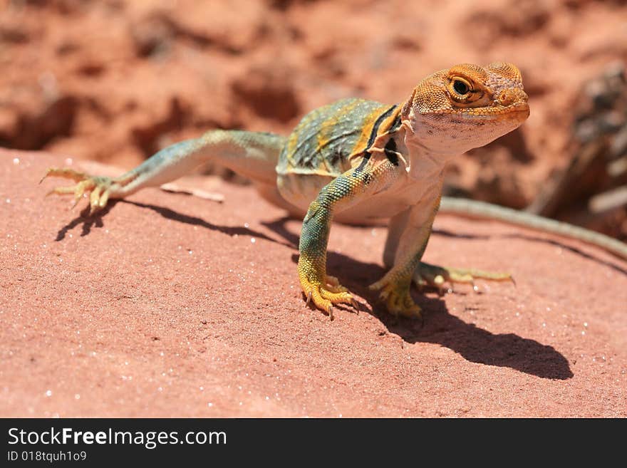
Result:
[[[130,168],[491,61],[521,68],[532,115],[447,191],[627,239],[627,1],[0,0],[0,146]]]

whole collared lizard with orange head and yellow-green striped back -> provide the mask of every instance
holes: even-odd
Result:
[[[326,271],[332,220],[348,224],[386,222],[385,275],[370,286],[389,313],[422,319],[412,284],[441,286],[509,273],[427,264],[422,256],[438,208],[500,219],[566,234],[627,258],[627,245],[529,213],[465,199],[442,197],[452,157],[487,145],[522,125],[529,98],[511,63],[462,63],[420,80],[403,103],[389,105],[346,98],[312,110],[287,137],[268,132],[209,130],[155,153],[119,177],[51,167],[43,179],[66,177],[76,184],[49,194],[89,194],[90,214],[110,199],[175,180],[213,161],[254,182],[260,197],[303,217],[298,275],[306,303],[333,319],[333,306],[356,305],[352,294]],[[42,179],[42,180],[43,180]]]

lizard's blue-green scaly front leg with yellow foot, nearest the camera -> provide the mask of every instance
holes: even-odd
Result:
[[[321,189],[311,202],[301,231],[299,244],[299,279],[307,302],[333,319],[333,304],[354,303],[348,289],[338,279],[326,274],[326,248],[333,213],[351,207],[387,188],[398,175],[398,167],[389,161],[348,170]]]

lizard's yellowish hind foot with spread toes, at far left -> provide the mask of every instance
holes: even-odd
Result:
[[[48,195],[74,194],[74,199],[76,201],[74,203],[75,207],[76,204],[81,201],[84,193],[91,192],[89,196],[89,214],[98,212],[106,206],[109,200],[109,195],[111,194],[112,185],[115,182],[110,177],[92,176],[68,167],[48,168],[48,170],[46,170],[46,175],[41,178],[39,183],[41,184],[46,177],[65,177],[66,179],[71,179],[74,182],[77,182],[71,187],[56,187],[48,192]]]

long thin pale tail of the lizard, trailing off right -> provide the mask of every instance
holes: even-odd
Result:
[[[605,234],[556,221],[555,219],[537,216],[537,214],[519,212],[515,209],[499,207],[486,202],[477,202],[476,200],[451,197],[442,197],[440,212],[455,213],[462,217],[475,219],[496,219],[507,224],[536,229],[541,232],[560,234],[599,246],[611,254],[627,259],[627,244]]]

